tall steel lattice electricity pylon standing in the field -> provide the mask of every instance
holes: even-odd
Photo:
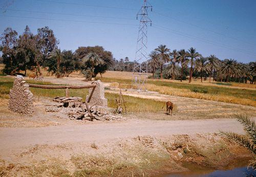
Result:
[[[139,12],[137,13],[137,19],[140,19],[139,33],[137,39],[137,49],[134,63],[134,83],[137,86],[138,90],[143,90],[144,83],[147,80],[147,25],[152,21],[148,18],[147,10],[152,6],[147,3],[147,0],[143,0],[143,5],[141,6]],[[142,62],[146,62],[145,68],[142,68]]]

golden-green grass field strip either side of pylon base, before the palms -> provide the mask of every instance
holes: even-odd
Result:
[[[132,85],[132,81],[130,79],[105,77],[98,79],[103,82],[119,82],[121,83],[121,87],[125,89],[136,89],[136,87]],[[251,89],[233,89],[221,86],[184,84],[164,80],[148,80],[146,89],[148,91],[156,91],[167,95],[256,106],[256,90]]]

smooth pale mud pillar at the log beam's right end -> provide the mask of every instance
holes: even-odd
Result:
[[[96,84],[95,90],[93,92],[92,98],[90,100],[90,104],[96,104],[99,106],[108,106],[108,100],[105,99],[105,91],[104,91],[104,85],[100,80],[92,81],[92,83]],[[89,89],[89,95],[87,96],[87,99],[91,95],[93,88]]]

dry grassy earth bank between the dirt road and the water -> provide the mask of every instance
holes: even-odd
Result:
[[[109,144],[108,144],[109,145]],[[95,150],[93,154],[79,152],[70,157],[36,154],[46,146],[24,154],[27,163],[0,161],[1,176],[161,176],[164,173],[186,171],[182,163],[193,163],[208,169],[229,168],[230,162],[239,158],[252,158],[250,152],[227,139],[216,135],[178,135],[156,139],[138,136],[119,140],[108,149]],[[63,146],[65,147],[65,146]],[[58,149],[59,151],[67,149]],[[183,158],[178,158],[181,153]],[[39,154],[38,154],[39,155]],[[33,157],[35,156],[35,157]],[[31,158],[29,158],[31,157]]]

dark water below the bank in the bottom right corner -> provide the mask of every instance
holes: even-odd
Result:
[[[189,177],[195,177],[195,176],[201,176],[201,177],[242,177],[242,176],[248,176],[248,177],[254,177],[256,176],[256,170],[253,171],[253,169],[247,169],[247,167],[239,167],[234,168],[232,170],[215,170],[212,172],[209,172],[208,170],[202,171],[202,170],[196,170],[196,172],[183,172],[183,173],[175,173],[175,174],[169,174],[165,177],[183,177],[183,176],[189,176]]]

